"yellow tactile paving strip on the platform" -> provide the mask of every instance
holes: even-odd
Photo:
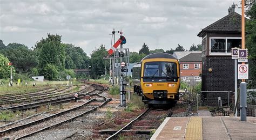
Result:
[[[191,117],[187,124],[185,139],[203,139],[201,117]]]

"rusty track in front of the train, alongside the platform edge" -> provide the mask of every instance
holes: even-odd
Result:
[[[166,117],[170,117],[171,114],[171,108],[169,110],[152,110],[148,108],[136,117],[136,119],[126,124],[126,126],[116,131],[107,139],[119,139],[122,136],[127,136],[128,139],[149,139],[150,134],[160,126]]]

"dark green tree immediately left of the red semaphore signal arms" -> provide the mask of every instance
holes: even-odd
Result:
[[[100,45],[99,48],[95,48],[91,54],[91,76],[94,79],[97,79],[98,76],[105,73],[106,63],[103,60],[103,56],[107,55],[107,50],[103,45]],[[109,66],[107,66],[109,67]],[[109,68],[107,68],[109,69]]]

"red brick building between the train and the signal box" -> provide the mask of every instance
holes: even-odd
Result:
[[[201,81],[201,51],[174,51],[173,56],[180,62],[180,79],[189,84]]]

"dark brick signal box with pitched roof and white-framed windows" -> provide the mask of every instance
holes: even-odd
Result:
[[[202,98],[206,99],[207,105],[218,105],[218,97],[227,104],[231,95],[224,91],[234,91],[231,48],[241,48],[241,15],[235,12],[235,5],[228,9],[227,16],[205,27],[198,36],[202,38],[203,49]]]

